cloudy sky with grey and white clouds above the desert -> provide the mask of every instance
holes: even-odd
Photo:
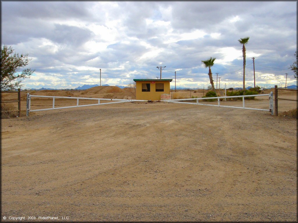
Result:
[[[1,1],[1,45],[29,54],[23,88],[127,86],[134,78],[173,78],[171,87],[296,84],[297,1]],[[218,78],[219,87],[219,78]]]

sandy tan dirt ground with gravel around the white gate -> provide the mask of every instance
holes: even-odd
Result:
[[[32,94],[82,93],[135,97],[97,90]],[[26,92],[22,98],[25,109]],[[32,109],[52,106],[52,99],[31,102]],[[246,105],[268,109],[268,98]],[[1,220],[297,221],[297,119],[282,114],[294,108],[296,102],[279,100],[280,115],[274,117],[264,111],[129,102],[2,119]]]

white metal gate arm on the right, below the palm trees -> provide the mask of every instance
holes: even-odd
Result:
[[[269,109],[253,109],[253,108],[245,107],[245,103],[244,103],[245,97],[259,97],[259,96],[269,96]],[[220,98],[242,98],[242,107],[220,105],[220,100],[219,100]],[[199,103],[200,99],[205,99],[205,100],[206,99],[217,99],[217,105]],[[180,101],[189,101],[189,100],[196,100],[197,103],[180,102]],[[223,97],[212,97],[212,98],[187,98],[187,99],[171,99],[171,100],[162,100],[162,101],[169,102],[169,103],[183,103],[183,104],[192,104],[192,105],[197,104],[197,105],[216,106],[216,107],[223,107],[223,108],[267,111],[267,112],[271,112],[271,114],[273,115],[273,93],[272,92],[270,92],[270,94],[264,94],[264,95],[240,95],[240,96],[223,96]]]

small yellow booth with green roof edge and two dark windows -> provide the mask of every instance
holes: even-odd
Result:
[[[170,95],[170,82],[173,79],[134,79],[136,100],[160,100],[161,95]],[[170,98],[169,98],[170,99]]]

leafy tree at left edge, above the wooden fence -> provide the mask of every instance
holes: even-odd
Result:
[[[13,48],[7,47],[7,45],[1,47],[0,51],[0,90],[22,87],[24,85],[21,84],[22,80],[30,78],[35,71],[26,68],[20,72],[22,67],[26,67],[30,63],[31,59],[28,58],[28,54],[16,54]]]

